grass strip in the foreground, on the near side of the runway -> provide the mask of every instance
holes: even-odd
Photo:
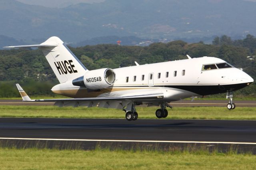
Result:
[[[138,169],[254,170],[252,154],[208,151],[55,150],[0,148],[1,170]]]

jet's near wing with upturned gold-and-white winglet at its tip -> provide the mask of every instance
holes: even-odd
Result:
[[[154,93],[146,95],[132,95],[132,96],[118,96],[118,97],[90,97],[90,98],[71,98],[71,99],[35,99],[31,100],[26,92],[16,84],[23,101],[30,102],[71,102],[71,101],[126,101],[126,100],[136,100],[136,99],[163,99],[163,93]]]

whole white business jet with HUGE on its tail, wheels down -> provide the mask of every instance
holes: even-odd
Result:
[[[51,37],[39,45],[10,47],[39,47],[60,84],[54,93],[71,99],[31,100],[16,84],[23,101],[49,102],[73,107],[104,107],[123,109],[128,121],[138,119],[136,105],[160,106],[156,117],[168,115],[169,104],[188,97],[202,97],[227,93],[228,109],[235,109],[232,92],[250,85],[248,74],[215,57],[200,57],[122,67],[88,70],[58,37]]]

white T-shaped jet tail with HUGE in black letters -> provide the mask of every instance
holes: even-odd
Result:
[[[87,70],[86,67],[84,67],[84,65],[58,37],[51,37],[38,45],[19,45],[9,46],[6,48],[12,47],[40,48],[60,83],[81,77]]]

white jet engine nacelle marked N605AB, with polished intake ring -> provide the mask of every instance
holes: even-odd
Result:
[[[112,69],[96,69],[87,71],[84,76],[72,81],[73,85],[98,90],[110,87],[116,80],[116,73]]]

